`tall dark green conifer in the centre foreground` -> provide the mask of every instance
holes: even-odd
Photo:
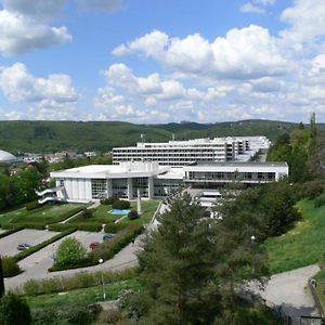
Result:
[[[188,194],[176,196],[139,255],[141,324],[211,324],[218,313],[210,219]]]

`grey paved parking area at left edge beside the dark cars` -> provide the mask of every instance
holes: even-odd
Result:
[[[0,239],[0,255],[14,256],[20,252],[20,250],[17,250],[17,246],[21,243],[27,243],[30,246],[35,246],[37,244],[50,239],[56,234],[56,232],[42,230],[22,230]]]

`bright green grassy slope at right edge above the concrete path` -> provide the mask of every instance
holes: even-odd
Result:
[[[313,200],[297,204],[301,221],[286,234],[265,242],[272,273],[317,263],[325,253],[325,206],[315,208]]]

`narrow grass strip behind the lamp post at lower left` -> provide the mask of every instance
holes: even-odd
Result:
[[[140,284],[136,278],[118,281],[105,285],[106,300],[115,300],[121,289],[139,290]],[[40,296],[25,296],[30,309],[48,309],[74,307],[78,304],[94,303],[103,301],[103,286],[77,289],[61,294],[50,294]]]

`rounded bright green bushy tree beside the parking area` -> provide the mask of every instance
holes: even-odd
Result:
[[[86,248],[78,239],[68,237],[57,248],[55,264],[58,266],[74,265],[86,258]]]

